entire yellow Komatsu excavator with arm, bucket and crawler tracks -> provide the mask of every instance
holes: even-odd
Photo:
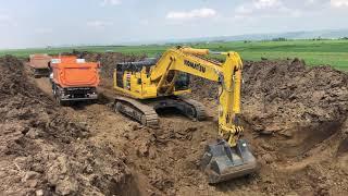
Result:
[[[208,54],[225,56],[226,61],[208,59]],[[160,59],[119,63],[114,88],[123,96],[115,98],[114,110],[148,126],[159,124],[157,111],[165,108],[176,108],[200,121],[206,117],[202,103],[182,96],[190,93],[189,76],[216,82],[220,138],[207,146],[201,168],[211,184],[244,176],[256,170],[257,160],[248,143],[239,139],[244,131],[238,121],[241,70],[243,62],[236,52],[188,47],[169,49]]]

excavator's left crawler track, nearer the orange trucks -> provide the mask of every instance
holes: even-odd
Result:
[[[159,125],[159,117],[154,109],[132,98],[116,97],[114,111],[121,112],[146,126]]]

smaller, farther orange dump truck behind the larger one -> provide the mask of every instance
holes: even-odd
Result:
[[[52,58],[46,53],[30,54],[29,65],[34,70],[35,77],[49,76],[50,71],[48,64],[51,61],[51,59]]]

